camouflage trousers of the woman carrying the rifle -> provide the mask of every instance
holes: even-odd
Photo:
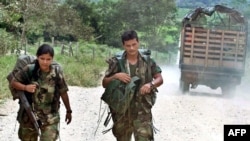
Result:
[[[38,141],[38,133],[26,114],[19,123],[18,137],[21,141]],[[56,141],[59,136],[59,122],[42,125],[40,130],[39,141]]]

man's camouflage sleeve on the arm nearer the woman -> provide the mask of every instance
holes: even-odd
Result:
[[[108,63],[108,69],[105,72],[105,77],[110,77],[113,74],[119,72],[118,60],[115,57],[112,57],[106,61]]]

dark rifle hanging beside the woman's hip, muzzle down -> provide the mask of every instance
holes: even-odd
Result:
[[[27,100],[27,98],[26,98],[26,96],[25,96],[25,94],[24,94],[23,91],[19,91],[19,98],[20,98],[20,100],[21,100],[22,106],[24,107],[26,113],[28,114],[29,119],[30,119],[31,122],[33,123],[33,125],[34,125],[34,127],[35,127],[35,129],[36,129],[36,131],[37,131],[37,133],[38,133],[38,136],[40,136],[40,135],[41,135],[41,131],[39,130],[39,127],[40,127],[40,126],[39,126],[39,124],[38,124],[38,121],[37,121],[37,119],[36,119],[36,116],[35,116],[35,114],[33,113],[32,109],[31,109],[31,107],[30,107],[30,104],[29,104],[29,102],[28,102],[28,100]]]

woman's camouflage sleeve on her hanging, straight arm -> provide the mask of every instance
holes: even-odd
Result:
[[[58,75],[59,75],[59,80],[57,82],[57,85],[58,85],[58,90],[59,90],[59,93],[60,94],[63,94],[65,92],[67,92],[69,89],[68,89],[68,85],[64,79],[64,74],[63,74],[63,70],[62,70],[62,67],[59,66],[58,67]]]

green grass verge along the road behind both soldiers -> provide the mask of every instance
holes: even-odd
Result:
[[[38,45],[27,46],[27,52],[35,55]],[[96,87],[101,85],[103,73],[107,69],[106,59],[120,52],[120,49],[110,48],[105,45],[80,43],[73,45],[74,56],[61,55],[61,46],[54,47],[54,60],[61,64],[66,82],[69,86]],[[168,55],[152,51],[152,58],[159,62],[166,62]],[[17,55],[0,56],[0,103],[3,99],[11,98],[8,89],[7,75],[13,69]]]

